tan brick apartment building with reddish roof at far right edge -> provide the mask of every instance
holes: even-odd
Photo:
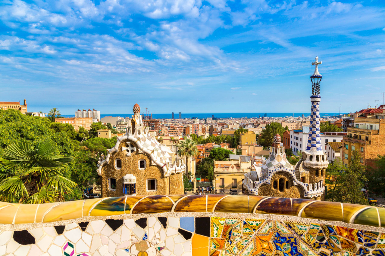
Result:
[[[381,107],[381,106],[380,106]],[[343,137],[342,160],[349,164],[352,151],[360,151],[360,162],[374,166],[377,155],[385,154],[385,109],[363,109],[353,119],[353,125],[347,127]]]

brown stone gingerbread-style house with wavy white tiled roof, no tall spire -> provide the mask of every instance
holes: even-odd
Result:
[[[175,152],[150,136],[138,104],[133,111],[126,134],[99,159],[102,197],[183,194],[185,163],[175,161]]]

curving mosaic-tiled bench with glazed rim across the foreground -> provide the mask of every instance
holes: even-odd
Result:
[[[231,195],[0,202],[0,255],[385,255],[385,209]]]

